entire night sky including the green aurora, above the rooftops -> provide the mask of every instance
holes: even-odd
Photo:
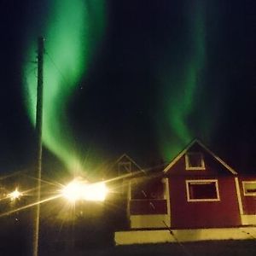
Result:
[[[237,172],[256,172],[255,1],[51,2],[1,2],[2,174],[32,165],[27,76],[40,35],[51,62],[44,169],[70,169],[75,155],[96,172],[123,153],[152,166],[197,137]]]

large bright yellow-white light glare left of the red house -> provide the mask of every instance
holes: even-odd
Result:
[[[85,201],[104,201],[108,194],[105,183],[84,183],[82,181],[73,180],[62,189],[62,195],[71,202],[78,200]]]

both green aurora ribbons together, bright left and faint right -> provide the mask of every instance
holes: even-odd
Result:
[[[159,90],[157,132],[160,154],[172,159],[195,137],[209,136],[212,120],[200,109],[200,93],[207,64],[206,3],[184,1],[182,24],[170,35],[165,34],[165,47],[154,73]],[[49,1],[42,34],[44,57],[44,127],[43,142],[69,170],[90,169],[81,164],[78,143],[68,119],[68,103],[79,82],[88,74],[91,61],[106,31],[106,6],[103,0]],[[181,33],[179,33],[179,30]],[[174,35],[174,37],[173,37]],[[26,59],[35,59],[38,34],[30,35]],[[148,53],[150,54],[150,53]],[[37,80],[26,63],[26,107],[35,121]],[[204,109],[205,111],[205,109]],[[191,119],[196,120],[191,125]],[[195,121],[193,122],[195,124]],[[152,125],[152,124],[151,124]],[[100,146],[100,145],[98,145]],[[86,148],[86,147],[85,147]]]

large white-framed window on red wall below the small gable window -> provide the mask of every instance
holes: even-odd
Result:
[[[188,201],[219,201],[218,180],[187,180]]]

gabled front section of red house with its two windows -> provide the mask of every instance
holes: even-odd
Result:
[[[169,181],[172,228],[241,224],[237,173],[199,141],[190,143],[164,173]]]

